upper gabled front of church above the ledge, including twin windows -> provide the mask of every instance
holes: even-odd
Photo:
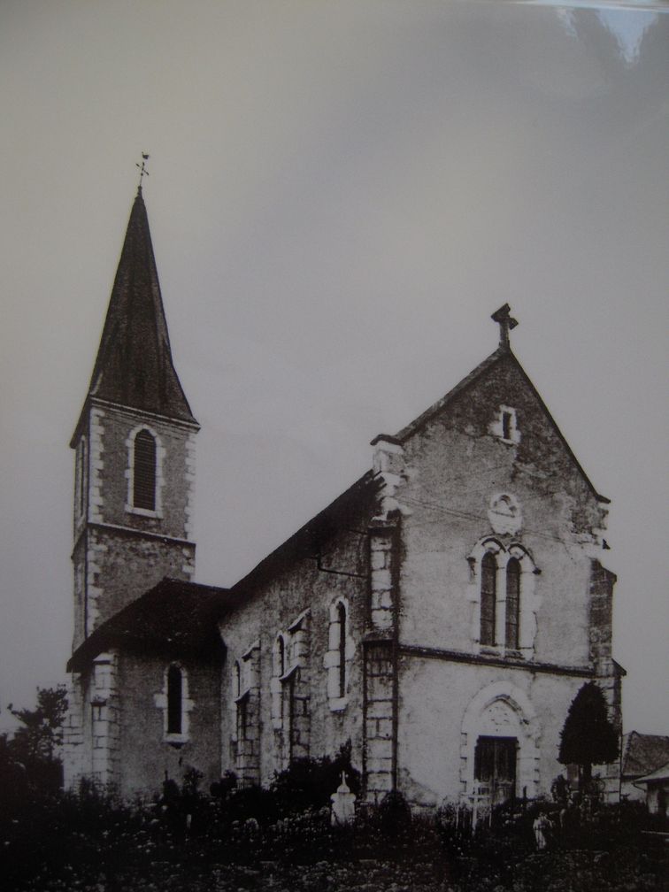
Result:
[[[394,440],[401,638],[583,666],[605,500],[500,347]]]

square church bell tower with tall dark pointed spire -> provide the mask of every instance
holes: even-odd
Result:
[[[70,442],[75,649],[163,576],[193,578],[198,430],[172,362],[139,186]]]

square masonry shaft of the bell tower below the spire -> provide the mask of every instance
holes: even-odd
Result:
[[[131,510],[128,500],[132,433],[142,426],[158,442],[155,516]],[[83,518],[75,505],[75,647],[163,576],[193,578],[194,434],[192,426],[131,409],[90,409]]]

